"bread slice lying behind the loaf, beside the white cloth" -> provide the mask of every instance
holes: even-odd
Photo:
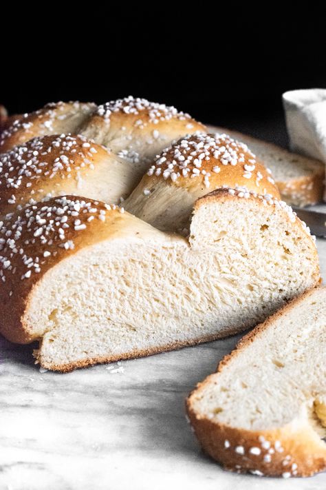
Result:
[[[250,150],[272,171],[281,198],[287,204],[303,207],[323,201],[323,162],[224,127],[209,126],[209,130],[230,134],[232,138],[249,145]]]

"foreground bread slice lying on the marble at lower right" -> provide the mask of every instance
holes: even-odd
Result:
[[[226,469],[310,476],[326,469],[326,288],[243,337],[187,400],[200,444]]]

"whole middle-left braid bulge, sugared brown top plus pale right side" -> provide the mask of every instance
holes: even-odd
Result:
[[[0,214],[53,196],[120,203],[142,174],[130,161],[83,136],[41,136],[0,154]]]

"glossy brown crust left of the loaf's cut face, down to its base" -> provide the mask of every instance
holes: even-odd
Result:
[[[16,343],[35,334],[24,320],[33,289],[45,272],[119,226],[123,208],[63,196],[8,214],[0,223],[0,331]]]

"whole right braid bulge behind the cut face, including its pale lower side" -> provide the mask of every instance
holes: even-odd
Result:
[[[188,233],[196,199],[223,187],[279,198],[272,175],[246,144],[196,132],[156,156],[124,208],[162,231]]]

